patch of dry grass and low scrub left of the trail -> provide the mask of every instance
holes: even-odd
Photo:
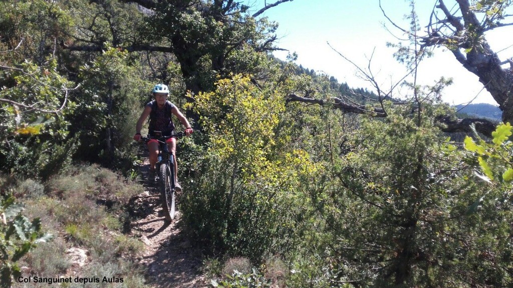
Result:
[[[129,221],[125,211],[129,199],[144,190],[140,184],[98,166],[80,166],[49,179],[44,186],[24,180],[11,187],[23,197],[25,214],[41,218],[43,230],[55,236],[21,261],[24,275],[116,276],[124,278],[123,285],[104,286],[145,287],[144,272],[134,264],[145,244],[123,234],[122,224]],[[88,251],[87,264],[72,266],[66,254],[69,248]]]

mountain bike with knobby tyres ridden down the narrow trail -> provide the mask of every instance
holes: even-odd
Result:
[[[146,143],[151,139],[159,141],[159,156],[155,163],[155,182],[160,192],[162,209],[164,210],[164,217],[166,217],[167,221],[172,221],[175,216],[175,175],[173,154],[169,152],[166,140],[171,137],[179,139],[183,136],[185,136],[184,132],[179,132],[170,136],[152,137],[148,135],[148,137],[141,137],[141,141]]]

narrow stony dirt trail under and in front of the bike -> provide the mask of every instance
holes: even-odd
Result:
[[[147,161],[140,168],[145,192],[134,198],[136,220],[131,223],[131,234],[140,237],[147,247],[140,258],[146,267],[147,283],[155,288],[209,287],[200,271],[201,253],[192,248],[182,232],[180,210],[171,223],[165,221],[159,192],[146,181],[148,168]]]

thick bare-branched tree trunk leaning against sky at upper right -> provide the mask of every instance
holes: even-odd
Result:
[[[513,122],[513,67],[501,67],[506,62],[501,62],[485,37],[486,31],[505,25],[501,25],[500,17],[491,21],[480,20],[476,15],[479,11],[472,8],[469,0],[456,2],[461,16],[452,12],[455,9],[448,9],[444,0],[438,0],[435,9],[441,10],[445,19],[429,23],[429,34],[422,37],[422,46],[448,47],[465,69],[479,77],[479,81],[497,101],[503,111],[503,121]],[[501,9],[508,6],[510,4],[505,4]],[[439,11],[433,10],[432,15],[438,15],[437,12]]]

